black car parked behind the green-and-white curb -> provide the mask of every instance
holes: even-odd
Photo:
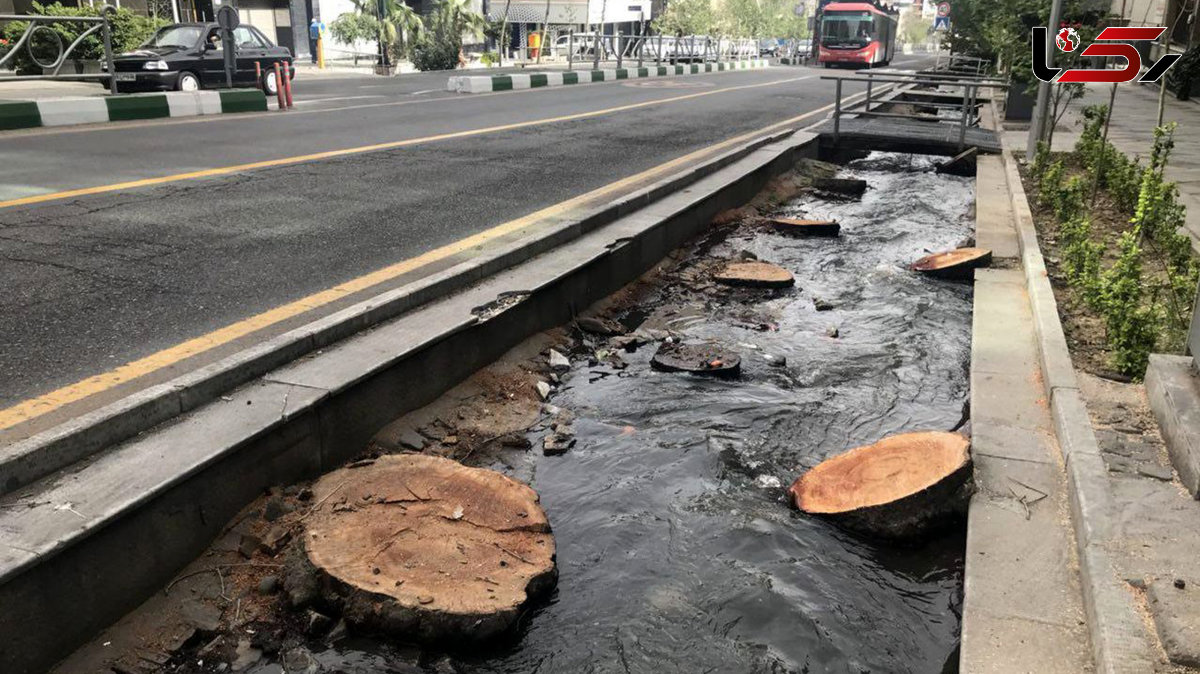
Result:
[[[226,86],[224,50],[221,26],[215,23],[172,24],[158,29],[154,37],[133,52],[113,59],[116,90],[127,91],[196,91]],[[287,67],[295,77],[292,52],[276,47],[257,28],[240,25],[233,31],[238,44],[238,67],[233,85],[262,86],[275,95],[274,64]],[[262,68],[258,80],[254,64]],[[108,85],[108,82],[104,82]]]

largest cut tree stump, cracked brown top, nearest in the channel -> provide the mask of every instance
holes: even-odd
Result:
[[[424,643],[512,628],[558,573],[538,494],[492,470],[384,456],[313,486],[304,552],[350,625]]]

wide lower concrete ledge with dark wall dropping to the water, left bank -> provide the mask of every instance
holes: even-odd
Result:
[[[270,372],[70,475],[10,494],[0,501],[0,604],[22,609],[0,613],[0,670],[44,670],[158,591],[263,489],[359,455],[388,421],[616,291],[816,149],[816,137],[804,133],[743,151],[689,188],[630,207],[553,254]]]

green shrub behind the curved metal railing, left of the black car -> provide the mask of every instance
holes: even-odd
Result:
[[[30,14],[43,14],[54,17],[98,17],[100,10],[92,7],[73,7],[68,5],[62,5],[60,2],[54,2],[53,5],[41,5],[34,2],[29,11]],[[155,19],[150,17],[143,17],[136,14],[130,10],[115,10],[109,18],[109,25],[112,29],[113,40],[113,53],[120,54],[122,52],[128,52],[136,49],[143,42],[146,41],[154,31],[158,28],[167,25],[167,19]],[[16,44],[20,36],[25,32],[25,28],[29,24],[26,22],[12,22],[5,24],[2,34],[0,37],[7,40],[10,44]],[[49,28],[59,35],[62,40],[62,48],[66,49],[72,42],[79,37],[80,34],[85,32],[92,24],[85,23],[65,23],[58,22],[49,24]],[[42,34],[43,31],[38,31]],[[48,40],[36,40],[32,44],[34,53],[37,59],[44,64],[53,62],[56,58],[59,50],[58,46]],[[101,31],[96,31],[84,38],[83,42],[76,47],[74,52],[70,54],[71,59],[79,59],[84,61],[97,61],[104,58],[104,42]],[[34,62],[29,55],[29,49],[25,46],[20,48],[20,52],[13,56],[13,66],[17,68],[19,74],[41,74],[41,66]]]

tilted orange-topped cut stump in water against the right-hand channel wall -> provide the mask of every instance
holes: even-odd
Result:
[[[971,443],[904,433],[827,459],[788,489],[796,507],[886,538],[908,538],[966,511]]]

